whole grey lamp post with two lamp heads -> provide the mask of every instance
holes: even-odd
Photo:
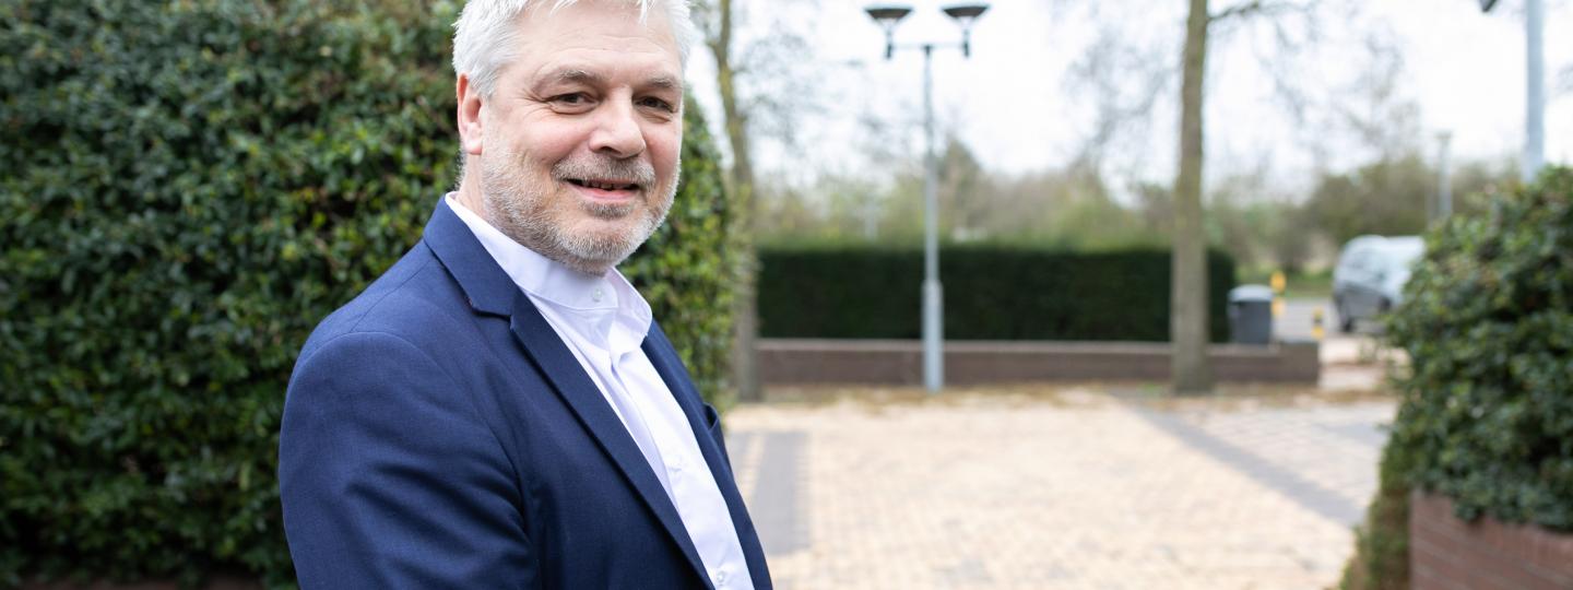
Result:
[[[936,186],[939,171],[934,160],[934,99],[933,99],[933,55],[936,47],[960,47],[961,57],[972,57],[972,22],[977,20],[988,5],[955,5],[947,6],[947,16],[961,25],[960,44],[923,42],[917,46],[897,46],[895,25],[912,13],[911,6],[868,6],[868,16],[884,27],[886,60],[895,57],[897,49],[923,50],[923,387],[930,393],[939,393],[945,384],[944,356],[944,289],[939,286],[939,197]]]

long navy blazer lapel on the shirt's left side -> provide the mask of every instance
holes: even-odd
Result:
[[[530,297],[508,278],[508,274],[497,266],[491,253],[481,247],[470,228],[448,209],[445,201],[437,205],[431,222],[426,223],[423,241],[469,296],[470,307],[481,313],[510,318],[508,327],[524,346],[529,360],[552,382],[557,395],[573,409],[601,450],[612,458],[628,483],[661,521],[672,541],[687,557],[694,571],[708,584],[709,574],[705,573],[698,551],[694,549],[694,541],[689,538],[687,529],[683,527],[676,507],[672,505],[661,480],[650,469],[639,444],[628,434],[628,428],[623,426],[601,390],[585,374],[579,359],[568,349],[557,330],[546,323]],[[706,455],[708,458],[709,455]]]

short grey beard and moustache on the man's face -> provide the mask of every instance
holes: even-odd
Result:
[[[486,217],[514,242],[588,275],[606,274],[607,269],[639,250],[665,222],[672,200],[676,197],[678,175],[673,175],[670,186],[656,187],[654,171],[642,162],[563,160],[552,167],[552,178],[544,183],[532,183],[521,178],[519,159],[497,156],[502,157],[481,160],[481,201],[486,208]],[[639,200],[618,205],[584,203],[573,195],[563,203],[551,201],[552,192],[557,189],[555,183],[562,183],[565,178],[595,176],[632,178],[645,192]],[[651,206],[651,197],[661,200]],[[628,231],[617,234],[574,233],[562,220],[554,219],[554,205],[558,212],[577,208],[606,220],[639,217]]]

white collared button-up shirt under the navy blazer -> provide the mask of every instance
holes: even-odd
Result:
[[[590,381],[623,420],[678,510],[711,584],[753,588],[727,500],[694,439],[694,430],[640,345],[650,334],[650,304],[617,269],[601,277],[541,256],[445,197],[492,260],[530,297],[579,359]]]

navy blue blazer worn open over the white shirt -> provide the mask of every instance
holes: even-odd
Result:
[[[643,351],[769,588],[716,409],[659,326]],[[711,587],[628,430],[447,203],[307,340],[278,489],[304,588]]]

